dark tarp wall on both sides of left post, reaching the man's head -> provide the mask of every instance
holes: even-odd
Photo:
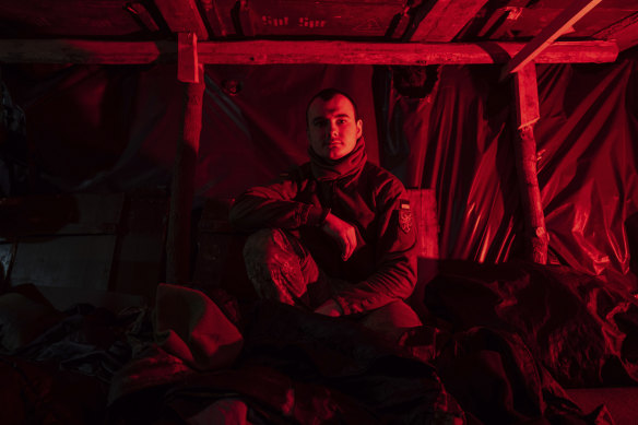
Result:
[[[68,191],[167,184],[184,116],[176,75],[169,66],[3,68],[27,116],[29,161]],[[305,108],[327,86],[358,99],[378,163],[370,75],[369,67],[208,67],[198,194],[234,197],[306,161]]]

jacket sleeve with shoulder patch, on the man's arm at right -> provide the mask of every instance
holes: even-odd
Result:
[[[345,315],[405,299],[416,285],[416,228],[403,185],[393,181],[379,205],[376,271],[333,298]]]

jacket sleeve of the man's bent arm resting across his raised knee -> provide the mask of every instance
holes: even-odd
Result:
[[[284,175],[270,185],[248,189],[233,203],[229,221],[245,232],[264,227],[293,229],[320,224],[326,211],[295,201],[298,190],[299,181],[291,175]]]

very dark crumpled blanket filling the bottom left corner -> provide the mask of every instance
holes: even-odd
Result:
[[[14,303],[0,311],[2,340],[15,342],[3,344],[0,355],[0,422],[102,423],[113,374],[131,358],[126,332],[139,311],[118,317],[78,305],[62,312],[36,294],[35,287],[15,290],[22,298],[15,296],[19,293],[3,295],[3,300]],[[43,323],[48,328],[43,329]],[[37,329],[39,334],[34,332]]]

